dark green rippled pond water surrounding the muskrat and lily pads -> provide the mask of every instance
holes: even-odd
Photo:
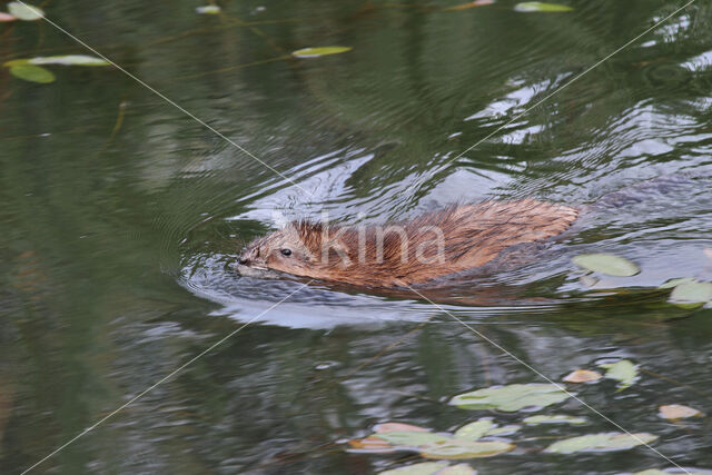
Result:
[[[20,473],[299,283],[237,278],[240,243],[274,218],[382,221],[453,200],[596,202],[645,179],[674,190],[589,215],[523,268],[473,281],[444,308],[561,380],[602,358],[641,365],[591,406],[682,466],[712,468],[712,310],[665,303],[672,277],[712,279],[712,6],[696,3],[506,125],[684,4],[513,2],[456,11],[379,1],[48,2],[48,17],[278,170],[276,175],[112,68],[53,67],[50,85],[0,68],[0,471]],[[447,2],[446,6],[457,4]],[[48,23],[0,23],[2,61],[87,53]],[[284,57],[310,46],[353,50]],[[496,132],[495,132],[496,131]],[[463,156],[468,147],[494,136]],[[456,158],[456,159],[455,159]],[[451,162],[451,160],[453,160]],[[289,181],[291,180],[291,181]],[[642,273],[578,280],[604,251]],[[488,305],[469,305],[491,297]],[[468,304],[457,303],[457,298]],[[417,458],[346,451],[399,420],[434,431],[491,415],[443,404],[542,382],[427,301],[313,284],[56,454],[48,473],[376,473]],[[621,473],[653,451],[545,455],[526,428],[481,474]]]

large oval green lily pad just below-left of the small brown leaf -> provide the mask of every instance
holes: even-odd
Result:
[[[498,409],[513,413],[525,407],[546,407],[571,394],[553,384],[512,384],[459,394],[449,404],[463,409]]]

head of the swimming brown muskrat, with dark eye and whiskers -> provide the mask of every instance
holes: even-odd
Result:
[[[237,270],[256,277],[273,277],[275,270],[313,276],[319,264],[320,241],[320,225],[291,222],[248,244],[238,258]]]

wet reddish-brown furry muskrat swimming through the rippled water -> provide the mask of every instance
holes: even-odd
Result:
[[[521,199],[453,205],[384,226],[293,221],[247,245],[237,270],[406,287],[481,267],[512,246],[557,236],[577,216],[570,206]]]

